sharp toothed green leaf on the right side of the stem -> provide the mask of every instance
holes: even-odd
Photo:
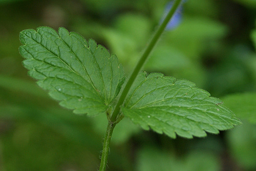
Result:
[[[193,82],[164,77],[163,74],[140,74],[122,112],[144,130],[169,137],[193,138],[218,134],[240,124],[222,101],[196,88]],[[176,134],[175,134],[176,133]]]

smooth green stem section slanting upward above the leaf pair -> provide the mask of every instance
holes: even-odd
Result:
[[[137,63],[137,66],[135,67],[134,71],[132,72],[132,75],[130,76],[129,80],[127,81],[122,94],[115,106],[115,109],[113,111],[113,114],[111,116],[111,121],[115,122],[117,119],[118,114],[120,113],[121,105],[123,104],[129,90],[132,87],[132,84],[134,80],[136,79],[137,75],[139,74],[141,68],[143,67],[144,63],[146,62],[146,59],[150,55],[151,51],[153,50],[154,46],[156,45],[157,40],[160,38],[161,34],[163,33],[164,29],[166,28],[170,18],[173,17],[175,11],[178,9],[178,7],[181,5],[182,0],[176,0],[172,9],[168,12],[165,19],[163,20],[163,23],[160,25],[158,30],[156,31],[155,35],[151,39],[150,43],[147,45],[144,53],[142,54],[140,60]]]

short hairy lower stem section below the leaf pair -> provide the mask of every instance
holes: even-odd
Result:
[[[101,161],[100,161],[100,171],[104,171],[106,169],[106,164],[108,163],[108,156],[110,151],[110,140],[112,137],[112,133],[115,127],[115,123],[112,123],[109,121],[108,127],[106,128],[106,134],[103,142],[103,149],[102,149],[102,155],[101,155]]]

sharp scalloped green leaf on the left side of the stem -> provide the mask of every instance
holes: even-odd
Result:
[[[92,39],[49,27],[20,32],[19,48],[29,75],[65,108],[89,115],[106,111],[119,93],[124,72],[116,55]]]

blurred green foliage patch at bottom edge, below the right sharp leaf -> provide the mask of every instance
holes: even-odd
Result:
[[[139,171],[220,170],[220,161],[212,152],[191,151],[185,156],[175,157],[154,146],[145,146],[138,152],[137,159]]]

